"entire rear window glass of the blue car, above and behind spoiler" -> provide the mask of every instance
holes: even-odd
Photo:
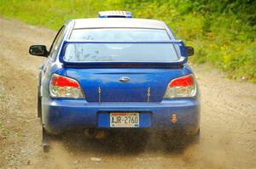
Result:
[[[67,62],[172,62],[179,59],[165,30],[73,30],[63,60]],[[80,42],[83,41],[83,42]],[[88,41],[88,42],[86,42]],[[95,41],[95,42],[94,42]]]

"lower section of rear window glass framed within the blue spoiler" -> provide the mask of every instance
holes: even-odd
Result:
[[[172,43],[70,43],[67,62],[172,62],[178,56]]]

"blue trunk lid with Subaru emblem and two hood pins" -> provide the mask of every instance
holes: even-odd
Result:
[[[87,102],[160,102],[168,83],[185,74],[183,68],[66,70],[83,88]]]

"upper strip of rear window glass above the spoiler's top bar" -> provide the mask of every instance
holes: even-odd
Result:
[[[73,30],[70,39],[86,41],[166,41],[166,30],[160,29],[79,29]]]

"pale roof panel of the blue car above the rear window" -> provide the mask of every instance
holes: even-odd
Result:
[[[83,28],[151,28],[166,29],[160,20],[126,19],[126,18],[96,18],[74,20],[74,29]]]

